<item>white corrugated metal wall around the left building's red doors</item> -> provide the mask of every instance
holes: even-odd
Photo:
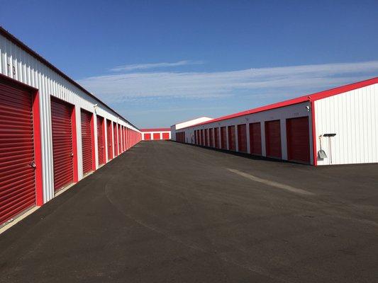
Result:
[[[42,142],[42,159],[43,159],[43,200],[48,202],[54,197],[53,188],[53,171],[52,171],[52,129],[51,129],[51,111],[50,96],[56,96],[62,100],[75,105],[76,123],[77,123],[77,160],[79,180],[82,179],[82,135],[80,127],[80,108],[95,114],[101,115],[109,120],[118,122],[120,125],[139,132],[126,121],[118,118],[116,112],[112,112],[98,100],[84,93],[84,91],[74,86],[62,76],[52,71],[42,62],[35,59],[25,50],[21,49],[13,42],[0,35],[0,74],[9,76],[12,79],[26,83],[33,88],[38,88],[40,96],[40,127]],[[94,105],[98,104],[96,109]],[[95,151],[96,151],[96,168],[98,168],[97,157],[97,119],[94,119],[95,129]],[[105,132],[106,134],[106,132]],[[134,144],[140,138],[135,136]]]

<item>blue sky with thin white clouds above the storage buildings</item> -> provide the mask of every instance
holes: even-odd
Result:
[[[378,1],[4,1],[0,24],[138,127],[378,76]]]

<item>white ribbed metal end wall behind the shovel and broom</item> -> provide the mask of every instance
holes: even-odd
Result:
[[[321,134],[336,136],[331,139],[332,163],[378,162],[378,84],[315,101],[316,137]],[[320,149],[317,139],[317,149]],[[327,158],[318,165],[328,165],[328,138],[322,138],[322,149]]]

